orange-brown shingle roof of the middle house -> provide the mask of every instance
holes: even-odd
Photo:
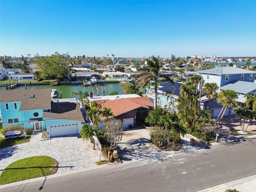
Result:
[[[154,103],[150,101],[147,97],[106,100],[104,102],[99,101],[98,103],[101,105],[102,108],[111,108],[111,111],[115,116],[124,114],[127,111],[131,111],[139,107],[154,107]]]

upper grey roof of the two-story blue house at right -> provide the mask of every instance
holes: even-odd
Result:
[[[217,75],[256,74],[255,71],[241,69],[241,68],[237,68],[237,67],[215,67],[212,69],[198,71],[198,73],[217,74]]]

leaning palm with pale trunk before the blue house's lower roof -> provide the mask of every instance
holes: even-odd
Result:
[[[220,123],[222,117],[225,115],[227,108],[233,107],[236,105],[237,94],[234,90],[223,90],[218,95],[218,102],[222,104],[222,109],[220,110],[220,113],[217,117],[216,126]],[[223,113],[222,113],[223,112]],[[221,115],[222,114],[222,115]],[[220,116],[221,115],[221,116]],[[218,122],[219,120],[219,122]]]

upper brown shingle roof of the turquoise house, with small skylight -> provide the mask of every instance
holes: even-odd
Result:
[[[30,95],[35,95],[30,98]],[[0,91],[0,103],[20,102],[20,110],[50,109],[51,89],[3,90]]]

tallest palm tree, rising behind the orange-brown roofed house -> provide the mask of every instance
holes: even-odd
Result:
[[[157,79],[158,77],[163,77],[166,79],[166,81],[173,82],[170,77],[167,77],[166,75],[159,75],[159,70],[161,68],[161,63],[157,58],[154,56],[152,57],[152,60],[147,60],[147,67],[143,67],[140,69],[141,74],[140,77],[137,79],[137,87],[140,87],[140,90],[142,90],[150,81],[155,82],[154,86],[154,92],[155,92],[155,99],[154,99],[154,108],[156,109],[157,106]]]

